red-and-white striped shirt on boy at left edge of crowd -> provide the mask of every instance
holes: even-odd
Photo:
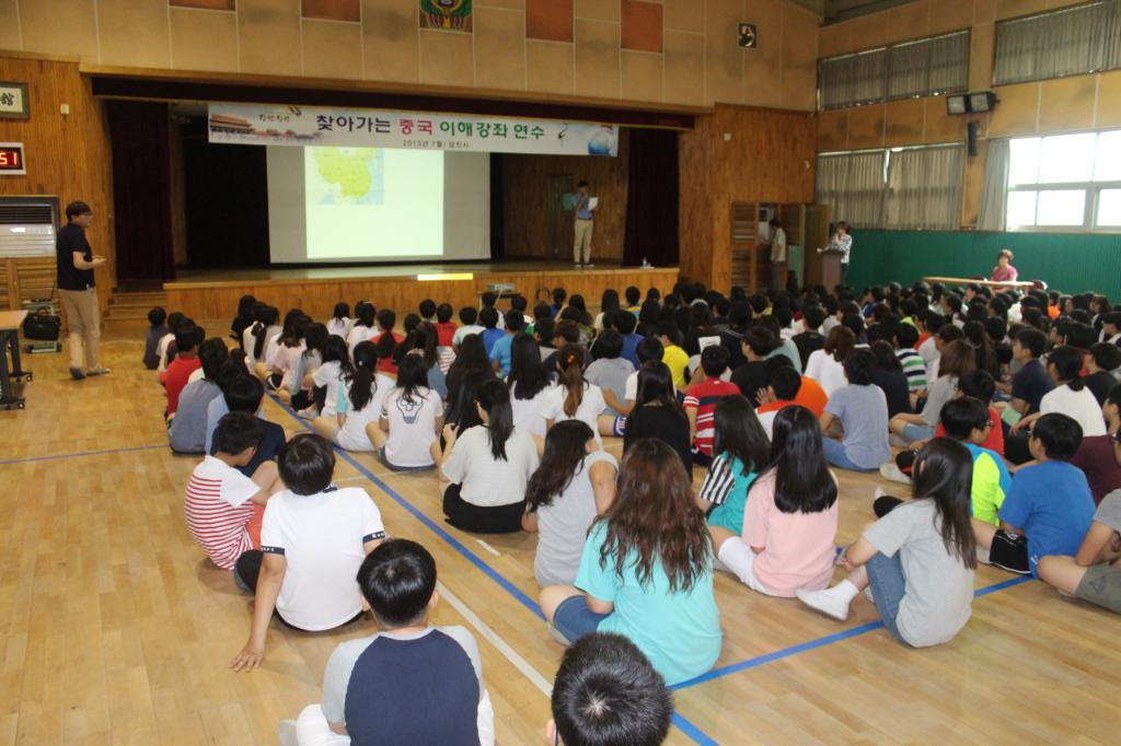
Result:
[[[249,498],[258,492],[257,483],[213,456],[205,457],[187,482],[187,530],[223,570],[232,570],[241,553],[253,548],[245,524],[253,517]]]

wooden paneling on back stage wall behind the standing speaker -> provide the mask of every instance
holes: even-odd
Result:
[[[573,156],[518,156],[502,158],[504,179],[503,218],[508,258],[552,259],[548,252],[548,180],[571,174],[574,181],[586,180],[600,198],[592,234],[592,259],[620,261],[627,230],[627,193],[630,133],[619,131],[619,156],[587,158]],[[562,213],[560,261],[572,257],[573,220]]]

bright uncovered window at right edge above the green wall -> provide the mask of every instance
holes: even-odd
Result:
[[[1008,227],[1121,227],[1121,130],[1009,142]]]

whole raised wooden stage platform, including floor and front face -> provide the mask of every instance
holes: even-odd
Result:
[[[591,269],[575,269],[569,263],[510,260],[499,262],[454,262],[377,267],[312,267],[300,269],[196,269],[180,270],[178,279],[165,282],[167,310],[180,311],[196,321],[222,321],[233,318],[238,300],[251,295],[276,306],[284,314],[302,308],[315,319],[330,318],[340,300],[351,308],[369,300],[379,309],[391,308],[398,324],[405,314],[415,311],[425,298],[450,302],[456,310],[478,306],[479,293],[492,283],[513,285],[513,292],[525,296],[530,308],[537,299],[562,287],[568,295],[584,296],[589,308],[597,307],[600,296],[614,288],[621,296],[628,286],[643,293],[648,288],[669,292],[677,282],[678,268],[639,269],[618,263],[600,263]]]

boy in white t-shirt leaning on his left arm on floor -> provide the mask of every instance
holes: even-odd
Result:
[[[356,622],[363,609],[358,568],[386,538],[370,495],[331,483],[335,454],[325,438],[298,435],[278,461],[288,488],[269,501],[261,550],[242,554],[234,569],[245,587],[256,589],[249,642],[230,663],[235,671],[261,664],[274,610],[306,632]]]

